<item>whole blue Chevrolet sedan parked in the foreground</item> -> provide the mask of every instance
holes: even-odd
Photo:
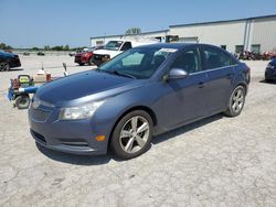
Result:
[[[153,135],[224,112],[238,116],[250,68],[205,44],[134,47],[95,70],[42,86],[29,109],[34,140],[52,150],[120,159]]]

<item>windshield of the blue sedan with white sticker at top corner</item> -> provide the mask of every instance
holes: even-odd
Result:
[[[150,78],[174,48],[138,47],[116,56],[98,68],[136,79]]]

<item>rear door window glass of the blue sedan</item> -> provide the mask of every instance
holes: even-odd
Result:
[[[227,67],[236,64],[229,54],[214,47],[203,47],[203,56],[205,59],[205,69]]]

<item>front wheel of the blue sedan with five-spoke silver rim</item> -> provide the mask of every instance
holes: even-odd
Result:
[[[139,129],[140,132],[138,132]],[[119,159],[134,159],[149,149],[152,131],[152,119],[146,111],[131,111],[123,117],[115,127],[110,148]]]

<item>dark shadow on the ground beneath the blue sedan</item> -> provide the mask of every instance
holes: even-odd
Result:
[[[157,135],[152,139],[152,144],[158,144],[160,142],[173,139],[180,134],[183,134],[185,132],[195,130],[202,126],[209,124],[211,122],[217,121],[222,119],[224,116],[222,113],[215,115],[210,118],[205,118],[203,120],[197,121],[194,123],[178,128],[176,130],[169,131],[167,133]],[[44,146],[41,146],[40,144],[36,143],[36,148],[41,153],[43,153],[45,156],[57,161],[57,162],[64,162],[68,164],[75,164],[75,165],[103,165],[107,164],[110,160],[114,160],[116,162],[124,162],[124,160],[118,159],[114,156],[110,152],[106,155],[74,155],[74,154],[67,154],[63,152],[57,152],[53,150],[49,150]],[[150,146],[151,148],[151,146]],[[148,150],[150,150],[150,148]]]

